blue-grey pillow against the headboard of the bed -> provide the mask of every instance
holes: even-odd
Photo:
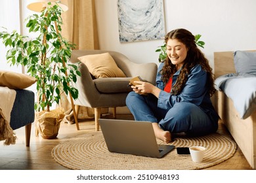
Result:
[[[240,76],[256,76],[256,52],[234,52],[234,66]]]

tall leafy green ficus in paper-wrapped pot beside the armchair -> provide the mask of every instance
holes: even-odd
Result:
[[[54,116],[55,124],[59,124],[64,118],[64,110],[51,110],[51,107],[54,103],[59,103],[62,92],[72,95],[72,99],[77,99],[78,90],[69,83],[76,82],[77,76],[81,76],[77,65],[68,62],[75,45],[64,39],[60,33],[61,14],[62,8],[58,3],[50,2],[41,14],[28,16],[26,27],[37,35],[34,39],[16,31],[0,32],[3,44],[10,48],[6,55],[9,63],[25,66],[28,75],[37,79],[36,120],[41,119],[41,116]],[[56,134],[45,135],[45,139],[56,137],[57,134],[58,130]]]

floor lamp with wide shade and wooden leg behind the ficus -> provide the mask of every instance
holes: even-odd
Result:
[[[44,8],[46,8],[48,5],[49,2],[56,2],[57,0],[30,0],[28,5],[27,5],[27,8],[32,10],[32,11],[35,11],[35,12],[41,12]],[[58,6],[60,6],[60,8],[62,8],[63,11],[67,11],[68,10],[68,7],[62,3],[58,3]],[[56,27],[56,22],[55,22],[55,29],[56,31],[58,32],[58,29]],[[60,48],[61,49],[61,48]],[[63,67],[66,67],[66,63],[65,61],[62,59],[62,65]],[[66,76],[68,75],[67,71],[66,71]],[[69,85],[69,83],[68,83]],[[70,94],[70,93],[69,93]],[[77,127],[77,130],[79,130],[79,124],[78,124],[78,121],[77,121],[77,114],[75,112],[75,105],[74,105],[74,101],[73,101],[73,98],[72,98],[72,95],[70,94],[70,103],[72,105],[72,110],[73,110],[73,114],[74,114],[74,120],[75,120],[75,125]]]

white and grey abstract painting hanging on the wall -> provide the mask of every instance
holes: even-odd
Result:
[[[119,41],[163,39],[163,0],[118,0]]]

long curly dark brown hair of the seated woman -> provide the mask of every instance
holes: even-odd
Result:
[[[207,84],[209,87],[209,94],[212,96],[215,93],[214,87],[214,75],[209,66],[209,60],[205,58],[204,54],[196,45],[195,37],[190,33],[190,31],[186,29],[175,29],[170,31],[165,35],[165,43],[169,39],[177,39],[179,42],[182,42],[186,48],[188,48],[188,53],[186,59],[184,60],[184,64],[182,65],[181,73],[177,78],[177,82],[174,84],[171,93],[174,95],[178,95],[181,93],[184,85],[186,84],[186,80],[188,79],[188,75],[190,74],[190,70],[196,65],[200,64],[202,69],[207,72]],[[176,73],[176,67],[171,63],[171,60],[167,57],[165,59],[165,64],[163,65],[163,69],[161,69],[161,80],[166,84],[171,76]]]

